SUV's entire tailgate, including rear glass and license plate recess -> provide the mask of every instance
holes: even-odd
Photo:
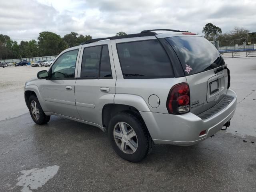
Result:
[[[220,102],[227,92],[228,70],[213,44],[202,36],[192,35],[166,40],[184,70],[190,88],[190,111],[200,114]]]

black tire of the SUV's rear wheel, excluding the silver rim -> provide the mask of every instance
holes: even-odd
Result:
[[[138,140],[138,147],[136,151],[132,154],[127,154],[123,152],[116,144],[113,132],[114,132],[115,125],[118,122],[127,123],[132,127],[132,129],[136,133],[137,140]],[[110,139],[110,143],[114,148],[115,152],[120,157],[130,162],[139,162],[140,160],[142,160],[147,154],[151,152],[154,144],[142,118],[130,112],[120,112],[110,120],[108,124],[108,137]]]

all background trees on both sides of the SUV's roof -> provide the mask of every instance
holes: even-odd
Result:
[[[250,39],[248,43],[256,44],[256,32],[250,32],[243,27],[234,27],[230,32],[222,33],[220,27],[208,23],[204,26],[202,33],[209,41],[213,41],[214,36],[217,37],[216,40],[220,41],[220,46],[230,46],[234,43],[242,44],[247,39]],[[116,33],[116,36],[120,35],[126,35],[126,33]],[[21,41],[18,44],[9,36],[0,34],[0,60],[58,55],[66,48],[78,46],[91,38],[90,35],[84,36],[76,32],[66,34],[62,38],[53,32],[44,31],[39,34],[38,41]]]

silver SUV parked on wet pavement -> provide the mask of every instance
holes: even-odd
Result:
[[[92,39],[60,53],[25,84],[34,122],[58,115],[96,126],[132,162],[154,143],[193,145],[228,127],[237,96],[218,50],[194,33],[154,31]]]

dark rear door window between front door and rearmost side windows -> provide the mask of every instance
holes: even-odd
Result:
[[[107,45],[84,48],[81,77],[112,78]]]

